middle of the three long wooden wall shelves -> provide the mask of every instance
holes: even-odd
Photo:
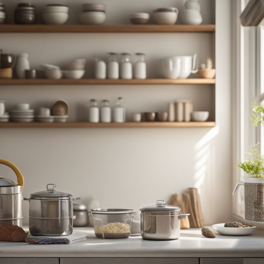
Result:
[[[215,84],[215,79],[0,79],[0,85],[163,85]]]

